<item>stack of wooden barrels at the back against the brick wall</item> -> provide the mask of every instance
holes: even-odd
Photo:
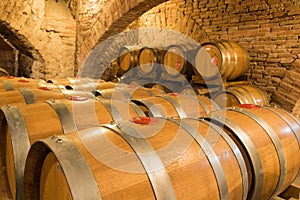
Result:
[[[194,90],[224,108],[238,104],[268,105],[265,91],[243,75],[249,67],[247,51],[235,42],[209,41],[165,47],[125,46],[118,58],[118,76],[127,83],[160,88],[165,92]],[[242,81],[241,81],[241,80]]]

